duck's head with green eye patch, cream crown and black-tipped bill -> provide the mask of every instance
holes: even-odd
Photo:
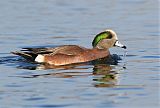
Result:
[[[110,29],[107,29],[97,34],[92,42],[93,48],[108,49],[111,47],[121,47],[126,49],[127,47],[122,45],[117,38],[117,34]]]

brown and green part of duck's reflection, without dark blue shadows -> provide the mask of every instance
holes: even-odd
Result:
[[[56,78],[75,78],[75,77],[93,77],[92,84],[94,87],[113,87],[117,85],[118,73],[113,71],[114,66],[108,64],[96,65],[68,65],[68,66],[52,66],[52,65],[39,65],[36,69],[54,69],[55,71],[47,74],[34,74],[24,76],[25,78],[37,77],[56,77]],[[91,69],[92,72],[87,69]]]

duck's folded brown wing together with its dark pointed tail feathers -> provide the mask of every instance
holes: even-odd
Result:
[[[73,56],[73,55],[79,55],[85,50],[86,48],[77,45],[63,45],[55,48],[22,48],[21,51],[15,51],[11,53],[22,56],[23,58],[29,61],[34,61],[38,55]]]

